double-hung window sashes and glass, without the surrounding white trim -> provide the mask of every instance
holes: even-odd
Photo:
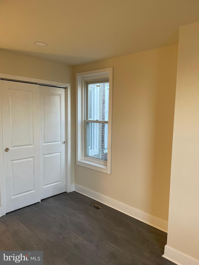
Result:
[[[86,156],[107,161],[109,80],[86,82]]]

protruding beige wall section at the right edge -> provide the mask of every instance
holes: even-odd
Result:
[[[198,32],[199,22],[180,28],[167,241],[170,248],[197,259],[197,264],[199,264]]]

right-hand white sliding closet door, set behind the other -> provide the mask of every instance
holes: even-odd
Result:
[[[66,191],[65,89],[39,86],[41,199]]]

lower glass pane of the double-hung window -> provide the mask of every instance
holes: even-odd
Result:
[[[86,155],[107,161],[108,124],[87,122]]]

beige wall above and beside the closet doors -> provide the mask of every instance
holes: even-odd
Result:
[[[74,88],[71,66],[26,56],[20,53],[8,52],[2,49],[0,49],[0,73],[69,83],[71,84],[71,90]],[[72,100],[72,104],[75,104],[74,100]],[[73,120],[74,112],[72,112],[72,123],[74,128]],[[74,137],[71,144],[71,183],[74,183]]]

